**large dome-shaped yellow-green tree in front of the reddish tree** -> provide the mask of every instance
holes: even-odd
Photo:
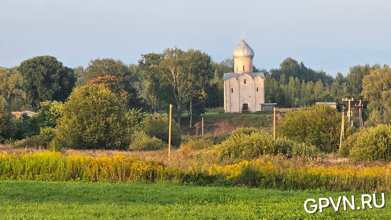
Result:
[[[74,148],[124,150],[133,132],[141,130],[140,112],[127,111],[118,96],[103,85],[76,88],[61,112],[61,137]]]

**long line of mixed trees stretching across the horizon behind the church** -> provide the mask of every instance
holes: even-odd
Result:
[[[388,65],[354,65],[346,76],[337,73],[335,78],[292,58],[283,60],[275,69],[253,69],[265,74],[266,103],[295,108],[315,102],[341,103],[342,97],[364,98],[368,101],[365,114],[372,124],[391,120]],[[43,101],[65,102],[74,88],[99,77],[113,76],[123,87],[127,108],[156,112],[172,104],[180,123],[181,115],[190,110],[199,115],[205,108],[223,106],[225,72],[233,72],[232,59],[217,63],[208,54],[191,48],[142,54],[137,64],[97,58],[87,67],[75,68],[64,66],[52,56],[36,56],[17,67],[0,68],[0,94],[4,109],[38,110]]]

